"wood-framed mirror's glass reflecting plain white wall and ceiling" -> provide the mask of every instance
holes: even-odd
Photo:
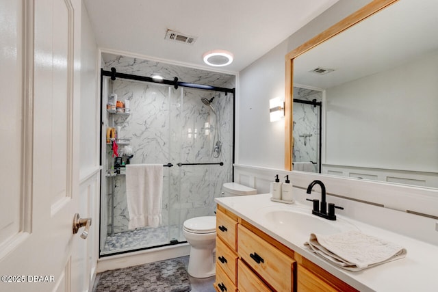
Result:
[[[294,59],[294,99],[322,96],[322,173],[438,187],[437,14],[400,0]]]

